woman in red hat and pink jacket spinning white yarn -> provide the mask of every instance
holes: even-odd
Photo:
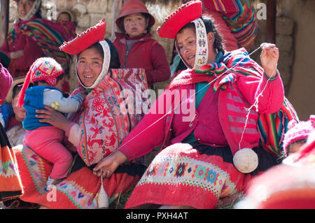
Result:
[[[102,170],[109,177],[123,161],[161,145],[125,208],[231,204],[251,175],[277,161],[276,155],[262,148],[268,142],[260,141],[257,128],[261,114],[283,109],[283,85],[276,70],[279,50],[263,43],[262,67],[244,48],[225,52],[214,23],[202,16],[201,1],[181,6],[158,34],[176,38],[176,49],[188,69],[172,80],[120,148],[100,161],[94,173],[101,175]]]

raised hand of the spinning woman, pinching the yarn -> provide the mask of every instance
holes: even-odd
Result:
[[[260,45],[262,52],[260,62],[268,78],[276,75],[276,64],[279,60],[279,49],[272,43],[262,43]]]

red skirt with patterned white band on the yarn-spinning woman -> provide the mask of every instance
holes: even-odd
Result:
[[[125,208],[145,203],[216,208],[235,203],[251,175],[218,154],[200,153],[186,143],[162,150],[134,188]],[[220,201],[221,200],[221,201]]]

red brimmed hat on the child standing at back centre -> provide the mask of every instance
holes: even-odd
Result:
[[[126,15],[131,15],[134,13],[146,13],[149,16],[149,26],[153,27],[155,24],[155,19],[153,15],[148,12],[148,8],[144,5],[144,3],[140,0],[128,0],[124,4],[123,8],[120,10],[120,14],[116,19],[116,24],[120,27],[121,18]]]

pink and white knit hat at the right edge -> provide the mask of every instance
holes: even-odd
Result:
[[[296,122],[291,120],[288,123],[288,131],[283,138],[283,150],[287,154],[288,146],[296,141],[307,139],[315,128],[315,115],[310,115],[307,122]]]

